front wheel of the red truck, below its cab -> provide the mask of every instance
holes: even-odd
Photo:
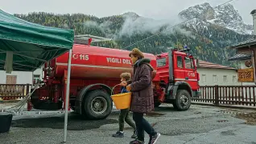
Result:
[[[191,96],[188,90],[178,90],[175,98],[175,104],[177,110],[188,110],[191,105]]]

